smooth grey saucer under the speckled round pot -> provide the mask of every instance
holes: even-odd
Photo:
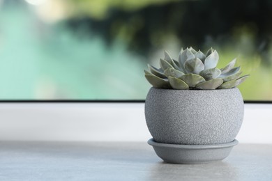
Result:
[[[175,145],[157,143],[149,139],[158,157],[172,164],[204,164],[225,159],[234,145],[236,139],[230,143],[216,145]]]

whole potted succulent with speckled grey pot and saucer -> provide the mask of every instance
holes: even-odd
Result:
[[[167,52],[160,68],[148,65],[153,86],[146,97],[146,125],[156,154],[165,162],[198,164],[224,159],[238,143],[243,122],[243,97],[236,58],[216,68],[218,52],[181,49],[178,61]]]

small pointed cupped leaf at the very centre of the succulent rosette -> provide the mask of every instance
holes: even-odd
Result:
[[[188,73],[199,74],[199,72],[204,70],[204,64],[199,58],[192,58],[184,63],[184,68]]]

